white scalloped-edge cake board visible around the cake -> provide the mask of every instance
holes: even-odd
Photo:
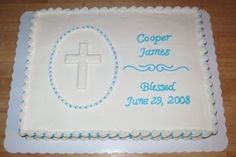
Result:
[[[219,132],[215,136],[198,141],[168,140],[168,141],[81,141],[81,140],[26,140],[17,134],[20,100],[24,78],[24,63],[26,61],[27,33],[30,29],[32,12],[26,12],[21,17],[18,34],[15,64],[9,100],[7,128],[5,131],[4,147],[11,153],[161,153],[161,152],[200,152],[222,151],[228,145],[226,136],[225,117],[219,72],[216,63],[215,47],[213,44],[210,17],[203,11],[204,28],[209,49],[210,70],[213,74],[214,93],[216,98],[217,119]]]

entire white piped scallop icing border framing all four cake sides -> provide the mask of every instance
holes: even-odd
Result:
[[[158,12],[158,13],[189,13],[189,12],[195,12],[196,13],[196,22],[197,22],[197,28],[199,31],[199,41],[201,45],[201,58],[202,58],[202,67],[203,71],[205,73],[205,81],[206,81],[206,89],[208,91],[208,99],[210,102],[209,110],[210,110],[210,117],[212,120],[212,126],[211,130],[133,130],[131,132],[126,131],[76,131],[76,132],[50,132],[50,131],[43,131],[43,130],[24,130],[23,129],[23,118],[24,118],[24,110],[26,108],[26,101],[27,101],[27,89],[29,87],[29,81],[27,81],[29,78],[29,70],[30,70],[30,58],[33,53],[34,45],[33,45],[33,34],[34,34],[34,28],[35,28],[35,22],[37,20],[37,17],[40,14],[47,14],[47,13],[102,13],[102,12]],[[206,38],[204,33],[204,27],[203,27],[203,19],[202,19],[202,12],[197,7],[112,7],[112,8],[75,8],[75,9],[42,9],[40,11],[36,11],[33,14],[32,21],[31,21],[31,28],[29,32],[29,40],[27,42],[28,48],[27,48],[27,61],[25,63],[25,77],[24,77],[24,86],[23,86],[23,95],[22,95],[22,101],[20,103],[20,113],[19,113],[19,130],[18,134],[22,137],[25,137],[27,139],[81,139],[81,140],[106,140],[106,139],[112,139],[112,140],[124,140],[124,139],[133,139],[133,140],[168,140],[168,139],[191,139],[191,140],[198,140],[198,139],[204,139],[211,135],[214,135],[217,133],[217,118],[216,118],[216,107],[215,107],[215,99],[214,99],[214,91],[213,91],[213,83],[212,83],[212,75],[210,73],[209,68],[209,58],[208,58],[208,50],[206,47]]]

